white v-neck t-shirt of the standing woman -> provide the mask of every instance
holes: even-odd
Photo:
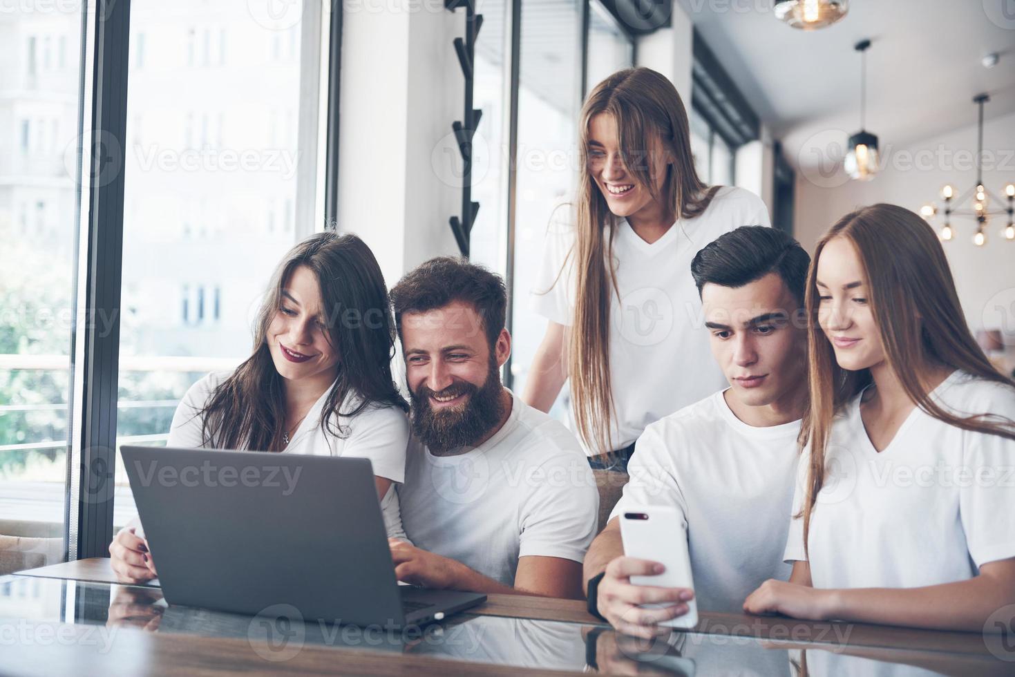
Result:
[[[572,322],[576,298],[572,219],[564,207],[554,212],[543,267],[531,294],[536,313],[565,326]],[[733,187],[720,189],[703,214],[678,220],[651,245],[620,219],[613,242],[619,302],[616,293],[610,294],[616,420],[611,449],[589,453],[622,449],[649,423],[726,386],[712,357],[690,265],[705,245],[741,225],[770,225],[768,211],[756,195]]]

